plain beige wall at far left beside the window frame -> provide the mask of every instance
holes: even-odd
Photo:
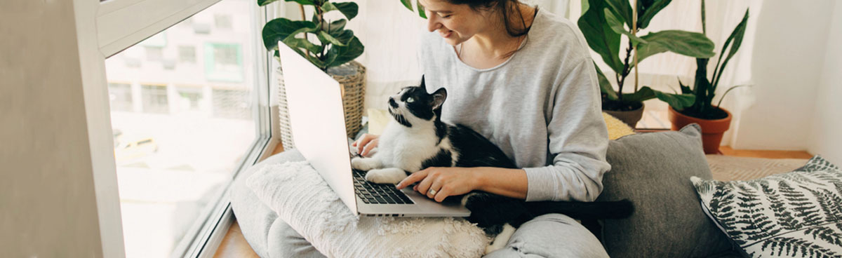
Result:
[[[73,1],[0,1],[0,256],[101,257]]]

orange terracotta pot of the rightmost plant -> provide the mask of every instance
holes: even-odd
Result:
[[[679,130],[687,124],[699,124],[701,126],[701,143],[704,145],[705,154],[719,154],[719,145],[722,143],[722,134],[731,127],[731,113],[720,108],[728,114],[726,118],[722,119],[702,119],[686,116],[683,113],[678,113],[672,107],[669,107],[669,121],[673,124],[673,130]]]

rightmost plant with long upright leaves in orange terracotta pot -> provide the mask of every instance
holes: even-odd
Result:
[[[722,94],[719,103],[713,106],[713,97],[717,92],[719,79],[722,78],[722,71],[725,71],[728,61],[731,60],[734,54],[739,50],[743,43],[743,34],[745,33],[745,26],[749,20],[749,10],[745,10],[743,20],[737,24],[733,29],[731,35],[725,40],[725,45],[722,45],[722,52],[717,58],[717,66],[713,68],[711,79],[707,79],[707,58],[697,58],[695,60],[695,82],[693,87],[688,87],[679,81],[681,92],[685,94],[692,94],[695,96],[695,101],[689,107],[679,107],[672,103],[669,105],[669,121],[672,123],[672,129],[677,130],[681,127],[696,123],[701,125],[702,141],[705,147],[706,154],[716,154],[719,152],[719,144],[722,142],[722,134],[731,126],[731,113],[720,108],[722,98],[731,92],[736,87],[730,87]],[[701,0],[701,28],[706,33],[705,28],[705,0]],[[729,49],[730,46],[730,49]],[[727,50],[727,56],[725,55]],[[725,56],[724,59],[722,57]]]

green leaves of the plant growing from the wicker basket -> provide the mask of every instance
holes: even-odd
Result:
[[[259,6],[265,6],[275,1],[279,0],[257,0],[257,3]],[[274,50],[275,56],[278,55],[278,41],[281,41],[322,71],[327,71],[330,67],[341,66],[363,54],[365,47],[360,43],[360,39],[354,36],[353,31],[345,29],[345,24],[356,17],[360,9],[356,3],[331,3],[328,0],[285,1],[312,6],[315,12],[309,21],[275,18],[264,25],[264,45],[267,50]],[[324,13],[331,11],[338,11],[347,19],[326,20]],[[301,34],[303,37],[299,37]],[[308,35],[318,39],[318,43],[313,43]]]

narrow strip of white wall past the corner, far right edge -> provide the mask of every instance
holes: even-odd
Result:
[[[834,3],[807,150],[842,164],[842,3]]]

